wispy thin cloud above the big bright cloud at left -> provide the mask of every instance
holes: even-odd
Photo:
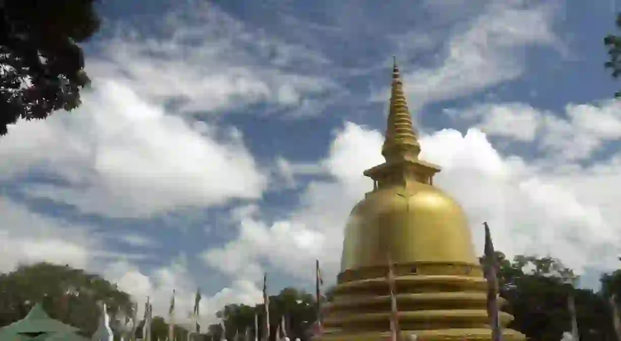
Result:
[[[178,111],[214,113],[268,102],[296,107],[309,94],[327,94],[329,78],[283,71],[299,63],[326,63],[322,56],[247,27],[211,3],[169,12],[163,32],[132,28],[106,41],[102,58],[89,60],[97,78],[122,79],[142,97]],[[312,101],[311,101],[312,102]]]

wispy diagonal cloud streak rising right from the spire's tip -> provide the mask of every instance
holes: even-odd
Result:
[[[405,74],[406,91],[416,99],[412,105],[463,97],[519,77],[525,69],[525,47],[560,49],[552,30],[553,5],[493,1],[468,25],[456,25],[457,33],[448,38],[437,66],[411,68]]]

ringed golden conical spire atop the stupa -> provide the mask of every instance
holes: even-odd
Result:
[[[407,108],[406,95],[397,66],[397,58],[392,56],[392,86],[386,137],[382,155],[387,162],[416,161],[420,154],[417,132],[412,124],[412,116]]]

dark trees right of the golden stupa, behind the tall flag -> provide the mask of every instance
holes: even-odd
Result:
[[[501,296],[507,299],[504,310],[515,317],[510,327],[533,341],[560,340],[563,332],[571,330],[567,302],[572,294],[581,340],[615,340],[605,297],[574,288],[573,270],[560,260],[517,255],[510,261],[501,252],[496,257]]]

